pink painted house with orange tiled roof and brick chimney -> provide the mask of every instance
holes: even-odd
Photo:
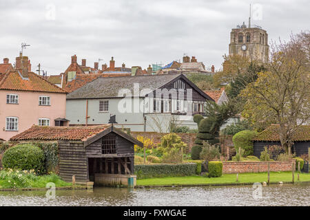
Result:
[[[33,124],[68,126],[66,93],[31,72],[28,57],[20,54],[15,69],[0,73],[0,139],[9,140]]]

